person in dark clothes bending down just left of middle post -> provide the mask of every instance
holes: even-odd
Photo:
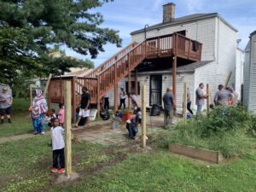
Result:
[[[130,119],[126,121],[126,129],[129,132],[129,137],[135,139],[137,134],[137,125],[141,121],[140,113],[133,114]]]

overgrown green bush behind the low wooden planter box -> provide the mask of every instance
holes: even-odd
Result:
[[[154,136],[154,143],[159,148],[168,148],[169,143],[208,148],[230,158],[241,156],[252,148],[255,138],[247,134],[248,130],[256,132],[256,116],[246,108],[218,107],[206,116],[189,119],[186,125],[179,122],[171,131]]]

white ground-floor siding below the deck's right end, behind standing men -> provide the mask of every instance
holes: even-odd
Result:
[[[214,72],[214,68],[216,65],[216,61],[212,61],[208,63],[207,65],[203,67],[199,67],[195,69],[195,87],[194,89],[196,90],[198,85],[200,83],[205,84],[205,93],[207,93],[207,84],[209,84],[210,88],[210,103],[213,102],[215,93],[217,91],[217,86],[215,83],[215,75],[212,74]],[[207,105],[204,106],[206,108]]]

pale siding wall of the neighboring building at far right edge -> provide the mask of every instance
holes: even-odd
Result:
[[[249,109],[256,113],[256,35],[251,38],[251,70],[250,70],[250,86],[249,86]],[[253,59],[254,58],[254,59]]]

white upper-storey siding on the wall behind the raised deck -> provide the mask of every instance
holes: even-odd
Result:
[[[173,32],[186,30],[186,37],[199,41],[202,45],[202,61],[211,61],[215,59],[215,32],[216,32],[216,17],[206,20],[198,20],[192,23],[166,26],[165,28],[148,30],[146,32],[147,38],[154,38]],[[132,41],[143,42],[144,32],[137,33],[131,36]]]

